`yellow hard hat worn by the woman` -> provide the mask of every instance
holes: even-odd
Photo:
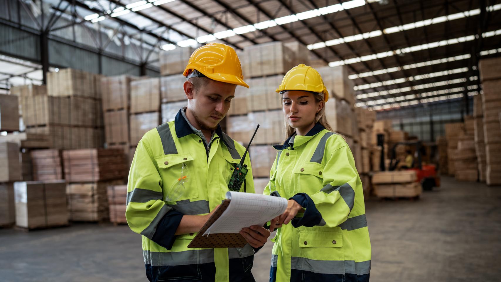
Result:
[[[316,69],[305,64],[299,64],[288,71],[276,91],[282,93],[287,90],[314,92],[323,96],[325,102],[329,99],[329,91],[324,85],[322,76]]]

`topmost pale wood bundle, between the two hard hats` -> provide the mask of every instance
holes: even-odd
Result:
[[[244,48],[239,57],[244,77],[285,74],[296,64],[294,51],[283,42],[269,42]]]

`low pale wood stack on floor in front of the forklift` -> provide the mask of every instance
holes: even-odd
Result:
[[[422,188],[415,171],[377,172],[372,176],[374,192],[379,198],[413,198],[421,195]]]

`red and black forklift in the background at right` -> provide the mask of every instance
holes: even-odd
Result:
[[[381,146],[381,171],[385,170],[385,164],[384,164],[384,135],[383,134],[377,134],[377,143],[378,146]],[[422,142],[420,140],[409,140],[409,141],[404,141],[404,142],[398,142],[393,147],[391,148],[391,159],[390,159],[390,164],[389,164],[389,171],[394,171],[398,168],[398,164],[400,160],[396,158],[396,148],[397,146],[415,146],[416,147],[416,152],[417,152],[417,161],[416,158],[412,160],[412,167],[407,168],[406,170],[413,170],[416,171],[416,176],[417,176],[417,181],[421,183],[421,186],[423,190],[428,190],[431,191],[433,187],[439,187],[440,186],[440,178],[438,174],[436,173],[436,166],[432,164],[428,165],[423,165],[422,164]]]

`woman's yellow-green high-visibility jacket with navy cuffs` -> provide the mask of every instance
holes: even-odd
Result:
[[[264,194],[277,191],[305,211],[272,239],[270,280],[368,281],[371,245],[350,148],[320,123],[305,136],[291,138],[275,146],[278,153]]]

